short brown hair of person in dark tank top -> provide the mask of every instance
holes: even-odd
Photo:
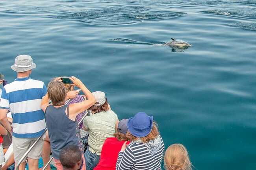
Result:
[[[54,106],[60,106],[64,104],[67,93],[63,82],[54,80],[50,81],[48,84],[47,92],[48,97]]]

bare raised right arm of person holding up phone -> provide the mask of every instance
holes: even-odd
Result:
[[[74,115],[74,114],[76,115],[78,113],[81,113],[81,112],[87,110],[91,106],[93,106],[93,104],[95,104],[96,101],[95,101],[95,98],[94,98],[93,94],[91,93],[91,91],[89,91],[85,87],[85,85],[82,83],[81,80],[79,80],[78,78],[76,78],[74,76],[70,77],[70,80],[72,80],[72,82],[78,88],[80,88],[87,97],[86,101],[82,101],[80,103],[74,103],[74,104],[69,105],[69,114],[70,115]]]

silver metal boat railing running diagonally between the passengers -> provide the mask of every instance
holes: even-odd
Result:
[[[78,89],[78,91],[81,91],[81,89]],[[70,102],[71,99],[68,99],[65,104],[68,104]],[[83,119],[88,115],[88,110],[86,111],[85,115],[82,117],[82,119],[78,122],[78,126],[83,122]],[[37,140],[30,146],[30,148],[28,148],[28,150],[25,152],[25,154],[21,157],[20,161],[18,162],[17,166],[15,167],[15,170],[19,170],[19,166],[22,163],[22,161],[27,157],[28,153],[30,153],[30,151],[33,149],[33,147],[35,146],[35,144],[37,144],[37,142],[41,139],[41,137],[43,137],[43,135],[45,135],[45,132],[48,130],[48,128],[45,128],[45,131],[43,132],[43,134],[41,136],[39,136],[37,138]],[[49,163],[52,161],[53,158],[50,159],[50,161],[48,161],[48,163],[45,165],[45,167],[43,168],[43,170],[46,169],[46,167],[49,165]]]

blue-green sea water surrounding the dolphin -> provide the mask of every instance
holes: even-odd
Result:
[[[256,0],[1,0],[0,72],[80,78],[119,119],[154,116],[195,170],[256,169]],[[163,46],[171,38],[193,46]]]

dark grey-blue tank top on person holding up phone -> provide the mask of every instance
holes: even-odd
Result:
[[[67,105],[59,108],[49,105],[45,110],[45,121],[51,142],[52,157],[55,159],[59,159],[59,152],[65,146],[78,145],[76,122],[67,117],[66,108]]]

